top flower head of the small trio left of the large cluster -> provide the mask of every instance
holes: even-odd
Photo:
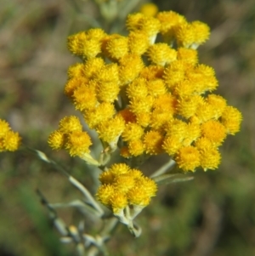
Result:
[[[82,124],[78,117],[69,116],[64,117],[59,121],[59,132],[63,134],[70,134],[71,132],[81,132]]]

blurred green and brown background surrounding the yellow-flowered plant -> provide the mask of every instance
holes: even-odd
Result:
[[[66,48],[66,37],[91,27],[99,20],[99,10],[82,0],[0,3],[0,117],[20,132],[24,144],[60,162],[94,192],[84,163],[64,151],[51,151],[47,138],[60,118],[75,113],[63,94],[66,70],[77,61]],[[162,186],[137,219],[142,236],[134,239],[119,225],[108,242],[110,254],[255,255],[255,4],[252,0],[155,3],[160,10],[172,9],[211,27],[209,42],[199,48],[201,63],[215,68],[217,93],[241,110],[243,122],[241,132],[229,136],[221,147],[218,170],[199,171],[193,181]],[[63,175],[31,154],[18,151],[0,157],[0,255],[73,255],[73,247],[59,244],[36,189],[50,202],[68,202],[81,195]],[[76,213],[63,210],[61,218],[70,225],[76,222]]]

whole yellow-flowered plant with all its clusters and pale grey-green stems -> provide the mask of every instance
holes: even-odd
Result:
[[[64,236],[62,242],[76,242],[80,255],[85,248],[90,255],[106,254],[105,242],[118,221],[140,236],[134,219],[156,196],[157,185],[189,180],[187,174],[197,168],[218,168],[218,147],[240,129],[240,111],[212,93],[218,88],[214,70],[199,62],[197,48],[210,34],[206,24],[188,22],[173,11],[142,11],[128,14],[126,26],[127,36],[93,28],[67,41],[71,54],[81,59],[69,67],[65,84],[79,117],[63,117],[48,145],[65,149],[101,172],[94,198],[60,169],[84,196],[84,201],[67,206],[108,219],[105,229],[92,236],[84,233],[82,222],[78,228],[66,227],[55,213],[66,205],[50,204],[38,193]],[[91,130],[96,135],[91,136]],[[14,151],[19,145],[20,136],[0,120],[0,151]],[[92,145],[101,146],[99,156],[90,150]],[[139,166],[161,154],[167,155],[167,164],[145,176]]]

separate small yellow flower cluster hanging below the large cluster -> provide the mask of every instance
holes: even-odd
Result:
[[[115,163],[100,174],[97,197],[113,213],[119,213],[127,206],[144,208],[150,203],[150,197],[156,195],[154,180],[144,177],[138,169],[131,169],[125,163]]]

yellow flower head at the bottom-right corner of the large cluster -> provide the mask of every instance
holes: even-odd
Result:
[[[220,153],[214,147],[211,147],[206,151],[200,151],[201,168],[203,168],[204,171],[207,171],[207,169],[214,170],[218,168],[220,159]]]

